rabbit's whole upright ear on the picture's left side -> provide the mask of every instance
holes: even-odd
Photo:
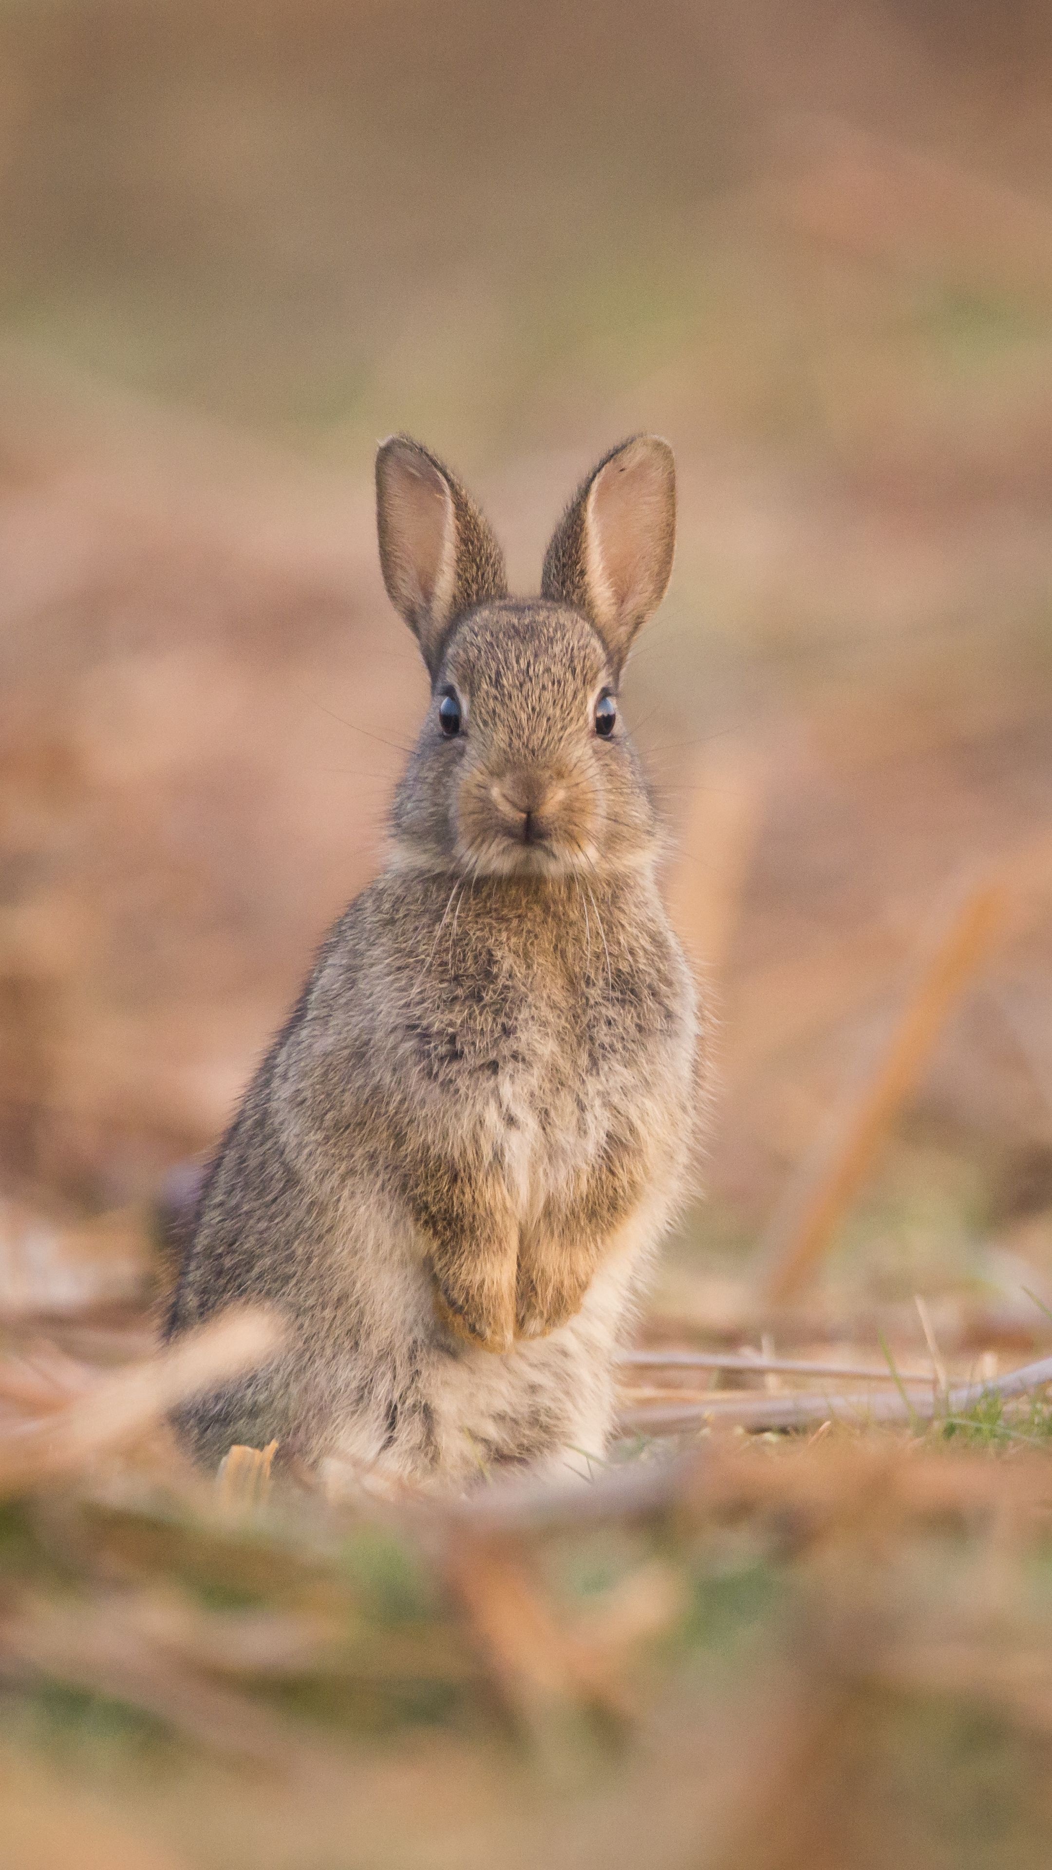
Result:
[[[507,597],[504,554],[460,482],[410,436],[380,443],[376,531],[387,597],[434,675],[449,625]]]

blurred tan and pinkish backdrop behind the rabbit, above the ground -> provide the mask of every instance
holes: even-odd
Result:
[[[1037,0],[7,0],[9,1255],[215,1139],[376,866],[395,428],[524,589],[599,453],[676,447],[629,707],[721,1010],[693,1245],[756,1238],[996,860],[1018,926],[846,1232],[945,1287],[1052,1201],[1050,75]]]

